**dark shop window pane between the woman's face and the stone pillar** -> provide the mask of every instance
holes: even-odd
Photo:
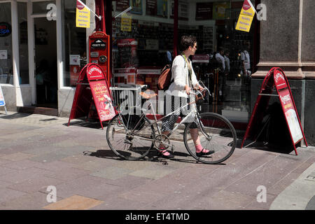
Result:
[[[196,56],[191,57],[194,71],[212,92],[199,109],[247,123],[255,22],[249,33],[235,30],[244,1],[189,1],[188,8],[187,3],[179,1],[179,39],[184,34],[197,37]],[[224,59],[225,70],[218,57]]]

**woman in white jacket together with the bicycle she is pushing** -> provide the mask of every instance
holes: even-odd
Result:
[[[169,137],[183,123],[186,125],[183,143],[188,153],[198,162],[218,164],[230,158],[234,152],[237,134],[230,121],[218,113],[197,111],[196,98],[204,99],[204,94],[211,94],[202,81],[197,81],[192,63],[188,59],[197,49],[196,38],[183,36],[181,46],[183,52],[175,57],[172,66],[174,81],[171,81],[169,89],[165,91],[166,114],[163,118],[157,119],[154,106],[150,102],[148,109],[142,109],[141,115],[132,113],[137,106],[118,108],[115,101],[113,102],[118,113],[107,126],[106,140],[111,150],[120,158],[139,160],[146,157],[153,148],[163,158],[174,158],[174,145],[170,143]],[[141,95],[144,99],[152,97],[146,92],[141,92]],[[152,112],[154,120],[147,118],[148,111]],[[182,118],[181,123],[174,127],[179,116]],[[168,148],[172,148],[172,153],[167,151]]]

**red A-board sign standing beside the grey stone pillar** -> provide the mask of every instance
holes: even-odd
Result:
[[[272,94],[274,87],[276,87],[276,92],[278,94]],[[262,82],[251,119],[249,120],[243,141],[241,142],[241,148],[243,147],[244,141],[247,137],[256,136],[255,140],[258,139],[258,132],[261,131],[259,130],[258,124],[261,122],[264,112],[269,104],[269,99],[272,96],[279,97],[295,154],[297,155],[295,145],[304,139],[305,145],[307,146],[307,141],[302,130],[300,118],[297,114],[297,109],[290,90],[290,85],[288,84],[288,79],[279,67],[270,69],[265,77],[265,80]]]

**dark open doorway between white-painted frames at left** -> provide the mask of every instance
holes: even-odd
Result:
[[[57,109],[56,22],[34,18],[36,105]]]

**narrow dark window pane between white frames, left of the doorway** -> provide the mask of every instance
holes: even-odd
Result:
[[[27,3],[18,2],[20,84],[29,84],[29,50],[27,39]]]

